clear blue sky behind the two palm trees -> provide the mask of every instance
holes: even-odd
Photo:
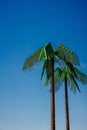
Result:
[[[49,130],[50,93],[41,66],[23,72],[25,59],[51,41],[74,50],[87,74],[85,0],[0,0],[0,130]],[[71,130],[87,130],[87,85],[69,90]],[[56,130],[65,130],[64,88],[56,93]]]

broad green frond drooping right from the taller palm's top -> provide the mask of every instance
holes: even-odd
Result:
[[[70,62],[71,64],[74,65],[80,65],[78,57],[76,53],[74,53],[72,50],[64,46],[63,44],[60,44],[56,49],[55,49],[55,54],[65,62]]]

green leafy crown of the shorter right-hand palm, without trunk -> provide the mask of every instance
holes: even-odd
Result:
[[[66,63],[63,70],[56,68],[54,71],[54,75],[55,75],[56,91],[61,87],[63,81],[65,81],[65,77],[67,77],[68,86],[74,93],[76,92],[76,88],[78,89],[79,92],[81,92],[77,81],[82,84],[87,84],[87,75],[81,72],[76,67],[74,67],[71,63]]]

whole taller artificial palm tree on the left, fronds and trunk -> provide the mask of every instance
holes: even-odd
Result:
[[[62,61],[60,65],[63,65],[63,60],[67,61],[68,59],[68,62],[71,62],[71,57],[73,57],[72,63],[79,65],[77,56],[73,51],[62,44],[53,50],[51,43],[49,42],[46,44],[46,46],[39,48],[36,52],[29,56],[23,66],[23,70],[27,70],[37,62],[40,62],[44,59],[41,79],[43,78],[44,72],[46,72],[47,81],[50,80],[51,84],[51,130],[55,130],[54,63],[56,62],[60,64]]]

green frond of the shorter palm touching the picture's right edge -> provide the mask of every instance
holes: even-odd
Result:
[[[87,84],[87,75],[75,67],[76,79],[82,84]]]

